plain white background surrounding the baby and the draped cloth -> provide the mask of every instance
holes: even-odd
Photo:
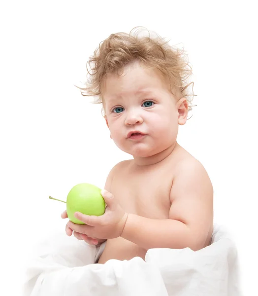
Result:
[[[6,1],[7,3],[7,1]],[[8,1],[0,26],[1,289],[60,218],[72,186],[103,187],[131,158],[109,138],[100,105],[73,84],[111,33],[144,26],[179,44],[193,66],[193,117],[178,142],[206,168],[214,222],[237,244],[244,295],[257,291],[257,13],[255,1]],[[15,287],[14,283],[17,284]],[[10,295],[6,294],[5,295]]]

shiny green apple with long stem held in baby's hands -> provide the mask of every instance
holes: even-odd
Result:
[[[84,224],[84,222],[81,222],[74,217],[75,212],[94,216],[103,215],[106,204],[100,191],[100,188],[88,183],[81,183],[73,186],[66,198],[68,219],[75,224]],[[49,198],[59,200],[51,196],[49,196]],[[63,200],[59,201],[65,202]]]

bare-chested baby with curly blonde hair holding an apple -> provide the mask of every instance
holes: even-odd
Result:
[[[85,224],[66,224],[89,244],[106,241],[98,263],[145,259],[152,248],[210,244],[213,187],[202,164],[177,143],[191,101],[185,81],[191,74],[182,52],[161,37],[110,35],[89,60],[91,80],[81,88],[97,97],[110,138],[133,159],[116,164],[105,190],[104,215],[75,213]],[[191,67],[190,67],[191,68]],[[66,211],[62,218],[67,218]]]

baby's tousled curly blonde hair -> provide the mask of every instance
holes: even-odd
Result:
[[[148,32],[148,36],[140,36],[144,31]],[[102,104],[101,86],[106,74],[119,74],[129,63],[140,61],[144,66],[160,70],[164,77],[169,79],[172,94],[177,99],[185,97],[191,111],[195,105],[192,105],[193,99],[187,97],[195,95],[193,94],[194,82],[186,82],[192,75],[187,54],[184,48],[181,51],[178,48],[174,49],[168,44],[169,40],[166,41],[157,33],[154,35],[156,36],[151,37],[150,32],[144,27],[135,27],[129,34],[111,34],[99,43],[87,62],[87,73],[90,76],[86,83],[83,83],[85,87],[75,86],[81,90],[83,96],[94,97],[94,104]],[[193,87],[189,92],[187,88],[191,84]],[[102,114],[104,113],[102,107]]]

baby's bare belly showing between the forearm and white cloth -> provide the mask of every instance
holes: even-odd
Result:
[[[145,259],[147,250],[140,248],[138,245],[122,238],[109,239],[106,242],[105,249],[100,256],[98,263],[104,264],[107,260],[130,260],[134,257]]]

